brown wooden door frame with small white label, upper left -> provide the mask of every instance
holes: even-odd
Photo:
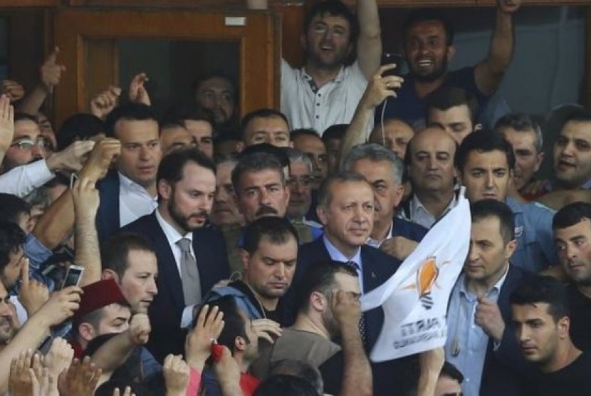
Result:
[[[246,24],[225,26],[226,16],[245,17]],[[222,14],[169,10],[60,9],[56,11],[54,33],[68,73],[64,75],[63,83],[56,87],[56,119],[63,120],[87,106],[85,98],[88,97],[88,87],[83,80],[86,68],[85,48],[88,41],[113,38],[236,42],[240,51],[241,113],[257,108],[278,107],[275,29],[273,17],[264,12]]]

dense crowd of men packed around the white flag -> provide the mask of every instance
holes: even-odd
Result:
[[[138,73],[54,132],[58,50],[30,93],[5,80],[0,393],[591,395],[591,112],[565,114],[547,179],[533,118],[481,119],[520,6],[498,0],[488,56],[459,71],[453,26],[412,10],[399,75],[376,0],[318,1],[281,109],[241,118],[224,73],[164,115]],[[461,191],[444,347],[370,361],[388,328],[360,297]]]

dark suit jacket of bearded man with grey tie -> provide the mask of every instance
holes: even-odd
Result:
[[[187,334],[187,330],[180,327],[185,305],[177,263],[155,213],[140,217],[127,224],[123,230],[146,236],[156,251],[158,294],[148,310],[152,333],[146,346],[162,362],[169,353],[184,353],[184,338]],[[209,227],[193,231],[193,249],[204,295],[215,283],[229,277],[224,236]]]

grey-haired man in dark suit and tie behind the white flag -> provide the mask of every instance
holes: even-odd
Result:
[[[374,194],[370,184],[359,174],[339,172],[325,179],[318,191],[318,218],[324,226],[322,238],[300,246],[293,290],[309,266],[318,261],[341,261],[357,269],[360,289],[367,293],[394,274],[400,261],[367,246],[374,221]],[[364,313],[360,330],[366,350],[375,344],[384,323],[382,308]],[[393,362],[372,364],[374,395],[392,395],[397,373]]]

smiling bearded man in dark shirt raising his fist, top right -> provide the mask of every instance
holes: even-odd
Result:
[[[521,0],[498,0],[491,49],[476,66],[448,71],[447,65],[456,52],[454,31],[449,22],[433,9],[412,11],[403,26],[404,59],[409,74],[404,76],[397,98],[389,98],[377,108],[376,120],[399,118],[424,127],[425,98],[441,86],[463,88],[476,96],[479,108],[495,93],[513,58],[513,13]]]

